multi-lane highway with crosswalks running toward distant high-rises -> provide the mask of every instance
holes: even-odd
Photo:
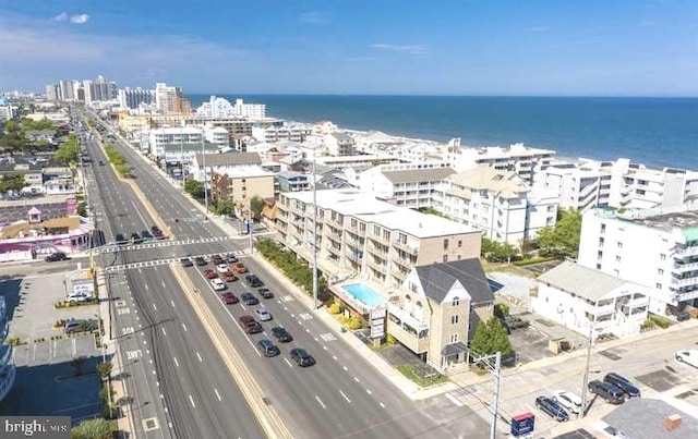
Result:
[[[106,162],[106,158],[97,145],[91,143],[88,148],[95,158],[93,186],[98,188],[98,194],[91,193],[89,198],[92,208],[100,215],[99,227],[105,230],[107,240],[113,241],[116,233],[128,237],[132,232],[149,229],[157,223],[151,214],[158,216],[165,222],[164,229],[177,240],[174,245],[123,246],[122,251],[100,255],[101,266],[111,267],[111,294],[119,297],[113,301],[113,325],[122,334],[124,362],[131,361],[128,365],[134,368],[133,380],[137,382],[129,388],[136,399],[134,406],[140,407],[134,414],[139,424],[156,417],[160,426],[152,432],[140,426],[139,432],[145,436],[137,437],[265,436],[205,328],[192,312],[185,298],[191,291],[182,291],[170,267],[158,264],[184,255],[242,254],[248,249],[248,241],[230,239],[201,216],[195,222],[176,222],[176,218],[193,217],[193,212],[198,212],[197,208],[139,153],[123,142],[116,146],[127,158],[133,183],[147,203],[143,204],[129,185],[119,181],[110,167],[97,164],[98,160]],[[152,210],[147,208],[148,204]],[[250,336],[242,331],[238,318],[243,314],[252,315],[257,306],[225,305],[203,276],[203,269],[214,268],[210,263],[206,267],[183,270],[196,294],[225,329],[237,353],[253,371],[264,392],[264,401],[278,411],[293,437],[459,436],[453,425],[435,420],[424,412],[422,404],[406,398],[371,364],[348,349],[341,338],[288,293],[284,280],[267,272],[254,258],[241,256],[240,259],[275,293],[270,300],[260,297],[261,304],[273,315],[272,321],[262,324],[263,333]],[[254,289],[250,289],[242,277],[228,284],[227,291],[239,296],[243,291],[254,292]],[[269,330],[273,326],[286,327],[293,341],[278,344],[281,354],[267,358],[258,353],[256,342],[272,339]],[[306,349],[317,364],[298,367],[289,356],[292,347]],[[472,437],[478,434],[482,431],[472,431]]]

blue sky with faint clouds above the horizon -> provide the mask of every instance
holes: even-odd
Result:
[[[0,89],[698,96],[698,1],[3,0]]]

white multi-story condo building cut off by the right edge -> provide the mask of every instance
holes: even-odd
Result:
[[[698,306],[698,210],[589,210],[578,261],[651,289],[651,313]]]

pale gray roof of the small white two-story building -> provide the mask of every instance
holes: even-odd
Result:
[[[541,275],[538,280],[551,286],[574,293],[590,301],[598,301],[628,281],[615,276],[565,261]]]

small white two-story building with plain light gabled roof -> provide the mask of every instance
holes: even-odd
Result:
[[[565,261],[538,278],[533,312],[588,336],[640,332],[650,290],[592,268]]]

